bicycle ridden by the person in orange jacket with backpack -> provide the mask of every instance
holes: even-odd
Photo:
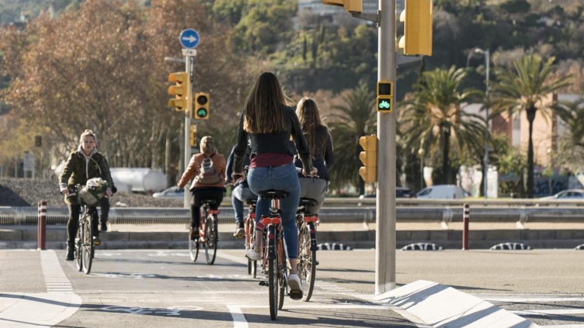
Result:
[[[211,205],[215,205],[214,200],[205,200],[201,205],[201,218],[199,219],[199,238],[195,240],[189,239],[189,253],[190,260],[197,261],[199,257],[199,249],[205,248],[205,258],[207,264],[215,263],[217,256],[217,242],[219,240],[217,231],[217,215],[219,210],[211,210]]]

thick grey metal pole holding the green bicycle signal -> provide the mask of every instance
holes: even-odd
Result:
[[[377,79],[395,95],[395,0],[379,0]],[[395,111],[377,113],[375,293],[395,288]]]

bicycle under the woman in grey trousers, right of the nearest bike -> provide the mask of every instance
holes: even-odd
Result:
[[[317,205],[311,198],[300,198],[296,213],[298,228],[298,277],[303,284],[303,301],[308,302],[314,290],[317,275],[317,225],[318,214],[311,214],[307,208]]]

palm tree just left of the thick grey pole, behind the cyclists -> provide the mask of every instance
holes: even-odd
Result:
[[[347,183],[359,186],[359,193],[365,191],[365,184],[359,177],[359,138],[374,133],[376,128],[375,96],[364,83],[343,96],[345,106],[333,106],[331,114],[331,134],[335,145],[335,165],[330,172],[333,187]]]

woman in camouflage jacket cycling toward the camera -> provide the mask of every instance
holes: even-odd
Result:
[[[65,195],[65,204],[69,210],[69,219],[67,221],[67,261],[74,260],[73,252],[75,250],[75,235],[77,234],[79,223],[79,211],[81,204],[78,203],[77,197],[69,197],[69,189],[74,189],[76,184],[84,185],[87,180],[94,177],[100,177],[107,182],[106,196],[112,196],[110,186],[113,186],[112,176],[105,157],[95,148],[96,137],[93,131],[85,130],[79,137],[79,147],[76,151],[69,154],[65,163],[65,168],[59,176],[59,188]],[[94,238],[98,238],[98,212],[95,207],[91,207],[93,214],[92,224]]]

